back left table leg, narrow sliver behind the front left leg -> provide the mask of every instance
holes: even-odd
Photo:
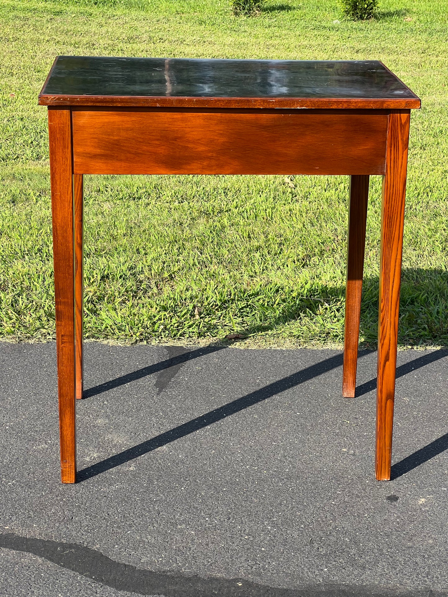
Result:
[[[76,398],[82,398],[82,251],[83,251],[83,205],[82,174],[73,174],[73,205],[75,207],[75,324],[76,324]]]

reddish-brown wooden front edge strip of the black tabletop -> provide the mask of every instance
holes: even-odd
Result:
[[[40,94],[41,106],[139,106],[167,108],[250,108],[250,109],[410,109],[419,108],[421,100],[335,97],[167,97],[167,96],[70,96]]]

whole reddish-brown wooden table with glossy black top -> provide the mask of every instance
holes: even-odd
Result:
[[[60,458],[76,481],[82,398],[84,174],[350,176],[342,395],[354,397],[369,175],[381,174],[377,479],[391,473],[410,109],[418,97],[379,61],[60,56],[48,106]]]

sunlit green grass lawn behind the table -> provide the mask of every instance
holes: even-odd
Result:
[[[284,0],[233,17],[223,0],[2,0],[0,337],[54,337],[47,111],[57,54],[379,59],[414,111],[400,344],[448,345],[448,0]],[[85,337],[340,346],[348,177],[85,177]],[[378,322],[381,177],[370,183],[361,315]]]

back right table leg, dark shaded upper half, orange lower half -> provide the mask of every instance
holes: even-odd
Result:
[[[369,175],[351,176],[342,373],[342,395],[345,398],[355,397],[368,198]]]

